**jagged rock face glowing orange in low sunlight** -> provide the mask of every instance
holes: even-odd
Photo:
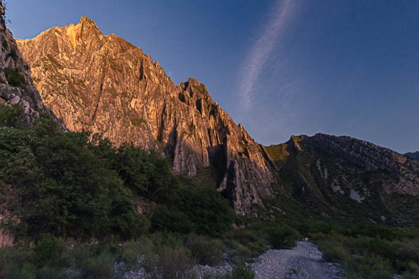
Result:
[[[17,43],[45,104],[69,130],[161,150],[186,176],[212,167],[219,190],[242,215],[272,195],[261,146],[204,84],[176,85],[140,48],[103,35],[87,17]]]

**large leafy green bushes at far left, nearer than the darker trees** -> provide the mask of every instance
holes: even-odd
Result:
[[[96,155],[103,145],[50,126],[46,121],[34,132],[0,130],[0,153],[6,158],[0,178],[21,201],[14,207],[21,222],[13,232],[34,240],[43,234],[129,239],[147,232],[148,222],[135,213],[131,190],[108,159]]]

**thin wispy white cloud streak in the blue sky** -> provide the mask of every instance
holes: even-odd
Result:
[[[272,13],[251,47],[247,59],[244,61],[240,71],[240,94],[242,96],[242,108],[244,112],[251,108],[254,100],[254,87],[258,80],[260,71],[269,59],[275,43],[284,34],[288,22],[293,16],[298,0],[278,0],[272,8]]]

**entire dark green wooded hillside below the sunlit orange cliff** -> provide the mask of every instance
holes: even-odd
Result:
[[[149,229],[216,235],[230,228],[233,210],[216,189],[175,176],[159,154],[63,133],[48,118],[21,129],[17,110],[0,107],[0,186],[13,196],[3,225],[19,239],[132,239]],[[138,199],[154,204],[146,216],[135,211]]]

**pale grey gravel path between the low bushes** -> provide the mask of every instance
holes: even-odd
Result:
[[[338,264],[325,262],[317,247],[298,241],[292,250],[268,250],[251,265],[256,279],[344,279]]]

